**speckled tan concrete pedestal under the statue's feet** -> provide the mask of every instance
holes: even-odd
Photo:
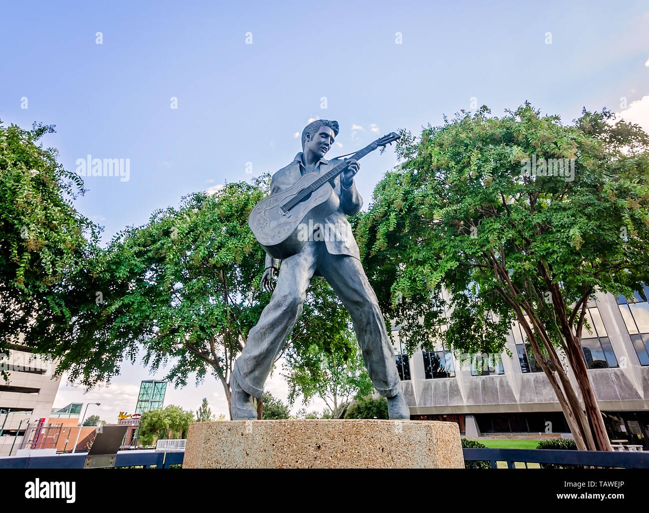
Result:
[[[183,468],[464,468],[459,428],[426,420],[190,425]]]

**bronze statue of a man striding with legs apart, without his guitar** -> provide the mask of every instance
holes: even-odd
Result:
[[[302,131],[302,152],[273,175],[271,194],[288,189],[305,173],[324,174],[340,163],[338,159],[324,159],[338,131],[337,121],[327,119],[318,119],[306,125]],[[337,176],[332,184],[340,199],[340,206],[337,211],[313,224],[313,230],[324,228],[326,236],[309,234],[302,250],[282,261],[281,270],[279,260],[266,256],[262,288],[273,290],[276,271],[279,272],[277,284],[271,301],[263,309],[257,325],[251,329],[232,371],[233,420],[257,418],[252,397],[262,396],[263,384],[275,356],[286,344],[291,329],[302,313],[306,289],[315,272],[324,276],[349,310],[369,377],[378,393],[387,398],[389,418],[410,419],[410,410],[398,387],[397,364],[386,325],[376,294],[363,271],[358,245],[347,221],[347,215],[354,215],[363,205],[363,199],[354,185],[354,175],[358,169],[358,162],[350,160],[348,169]]]

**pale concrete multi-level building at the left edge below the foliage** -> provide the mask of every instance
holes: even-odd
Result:
[[[0,354],[0,366],[9,372],[0,377],[0,456],[8,456],[22,446],[28,426],[47,422],[60,378],[53,378],[49,359],[29,352]]]

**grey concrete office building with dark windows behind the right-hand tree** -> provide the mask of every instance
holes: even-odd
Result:
[[[591,331],[582,351],[611,440],[649,449],[649,287],[633,298],[597,294],[587,305]],[[468,436],[509,433],[569,433],[561,407],[543,371],[512,326],[512,354],[483,355],[460,364],[443,344],[434,351],[404,354],[395,336],[397,367],[411,418],[452,420]],[[572,371],[569,375],[576,390]],[[622,442],[617,442],[622,443]]]

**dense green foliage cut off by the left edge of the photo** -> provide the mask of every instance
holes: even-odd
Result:
[[[69,286],[86,272],[101,229],[73,207],[81,178],[56,161],[57,149],[38,144],[54,131],[0,122],[0,353],[16,342],[43,353],[66,344],[75,312],[91,305]]]

